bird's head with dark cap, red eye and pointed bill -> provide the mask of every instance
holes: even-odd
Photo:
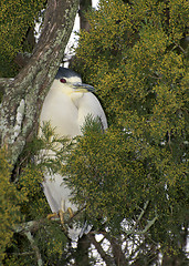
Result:
[[[63,93],[73,99],[81,98],[83,93],[95,91],[92,85],[82,83],[80,74],[65,68],[59,68],[55,83]]]

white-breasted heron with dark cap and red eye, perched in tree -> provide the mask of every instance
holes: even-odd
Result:
[[[50,123],[59,137],[72,140],[82,135],[82,127],[88,115],[98,119],[103,130],[107,129],[105,112],[93,94],[92,85],[82,83],[81,75],[66,68],[59,68],[55,79],[44,99],[41,114],[40,129],[44,123]],[[41,135],[41,130],[39,135]],[[53,153],[49,152],[51,157]],[[71,188],[64,184],[64,178],[59,173],[43,173],[42,183],[44,195],[52,213],[77,212],[78,206],[71,201]],[[63,218],[63,217],[62,217]],[[70,228],[69,236],[75,241],[81,236],[81,228]]]

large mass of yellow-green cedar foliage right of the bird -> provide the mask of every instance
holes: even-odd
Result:
[[[177,250],[189,204],[188,11],[186,0],[102,0],[88,14],[75,70],[97,88],[111,129],[88,129],[67,165],[90,217],[106,217],[114,232],[149,201],[137,229],[158,217],[149,237]]]

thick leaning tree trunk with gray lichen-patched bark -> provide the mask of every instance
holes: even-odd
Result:
[[[38,126],[40,110],[62,61],[77,7],[78,0],[48,1],[43,30],[29,63],[6,83],[0,105],[0,143],[12,165]]]

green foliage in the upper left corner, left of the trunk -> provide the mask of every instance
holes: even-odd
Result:
[[[24,39],[44,2],[45,0],[1,0],[0,76],[14,76],[18,66],[13,59],[17,53],[32,51],[33,47]]]

